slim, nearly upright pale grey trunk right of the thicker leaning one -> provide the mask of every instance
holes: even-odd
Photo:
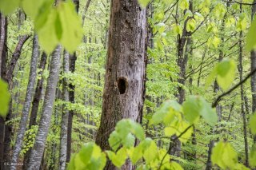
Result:
[[[64,50],[63,57],[63,73],[64,75],[69,72],[70,69],[70,54]],[[66,102],[69,101],[69,91],[67,78],[64,77],[62,81],[62,121],[61,121],[61,134],[60,134],[60,151],[59,151],[59,169],[65,170],[66,168],[66,152],[67,152],[67,126],[69,110],[66,108]]]

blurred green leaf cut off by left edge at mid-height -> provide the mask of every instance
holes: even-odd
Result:
[[[6,117],[10,103],[8,84],[0,79],[0,116]]]

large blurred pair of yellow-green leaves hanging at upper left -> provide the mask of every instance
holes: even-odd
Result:
[[[47,12],[38,15],[35,22],[42,47],[50,53],[61,43],[66,50],[73,53],[82,40],[81,22],[74,10],[74,4],[62,2],[57,8],[47,5]]]

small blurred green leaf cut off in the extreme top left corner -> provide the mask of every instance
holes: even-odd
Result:
[[[18,8],[20,0],[0,0],[0,10],[3,14],[7,15]]]

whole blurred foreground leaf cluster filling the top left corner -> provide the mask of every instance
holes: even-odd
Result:
[[[52,52],[58,44],[62,44],[66,50],[73,53],[82,42],[82,22],[75,12],[73,2],[60,2],[56,7],[52,6],[53,2],[53,0],[22,2],[2,0],[0,10],[4,14],[10,14],[21,6],[34,20],[39,42],[46,53]]]

